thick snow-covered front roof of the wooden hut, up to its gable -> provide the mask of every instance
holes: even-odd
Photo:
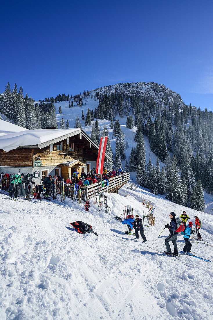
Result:
[[[12,149],[26,146],[38,146],[39,148],[43,148],[50,143],[57,142],[58,138],[63,137],[63,139],[66,139],[80,132],[81,129],[79,128],[12,132],[0,137],[0,149],[8,152]]]

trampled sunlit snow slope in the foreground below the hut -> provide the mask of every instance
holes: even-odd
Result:
[[[0,319],[212,319],[212,262],[176,260],[147,246],[169,222],[169,213],[183,209],[193,222],[195,214],[200,217],[202,236],[212,243],[212,214],[142,188],[126,190],[127,185],[119,195],[107,194],[111,216],[92,202],[85,212],[72,200],[34,204],[0,197]],[[156,208],[155,226],[145,230],[147,244],[127,236],[127,227],[114,219],[126,204],[133,204],[134,214],[145,213],[144,198]],[[76,220],[94,226],[99,236],[77,234],[69,224]],[[167,235],[157,239],[156,249],[165,250]],[[210,260],[212,249],[195,243],[197,255]]]

